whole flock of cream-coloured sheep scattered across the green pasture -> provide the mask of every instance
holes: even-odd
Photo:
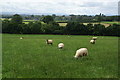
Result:
[[[23,39],[23,37],[20,37],[20,39]],[[95,44],[97,40],[97,37],[92,37],[90,40],[91,44]],[[53,45],[53,40],[47,39],[46,44]],[[63,49],[64,48],[64,43],[59,43],[58,44],[58,49]],[[74,55],[74,58],[78,59],[79,57],[87,56],[88,55],[88,49],[87,48],[80,48],[76,51],[76,54]]]

